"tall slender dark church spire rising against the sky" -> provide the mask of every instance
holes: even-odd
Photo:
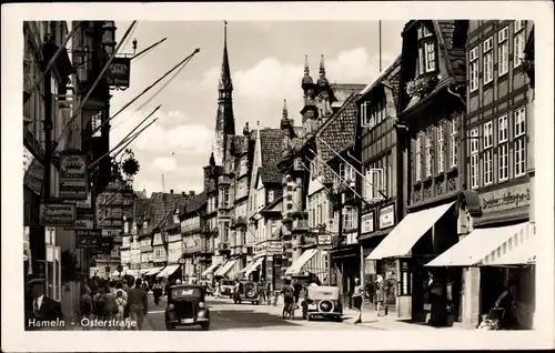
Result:
[[[216,165],[223,165],[229,137],[235,134],[232,93],[233,84],[231,82],[230,58],[228,54],[228,21],[223,21],[222,72],[218,84],[218,111],[214,139],[212,141],[212,153]]]

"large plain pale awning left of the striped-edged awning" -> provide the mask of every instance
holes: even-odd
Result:
[[[442,204],[427,210],[408,213],[380,244],[366,260],[382,260],[407,255],[414,244],[447,212],[455,202]]]

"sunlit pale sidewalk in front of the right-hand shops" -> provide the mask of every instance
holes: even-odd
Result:
[[[356,319],[356,311],[353,309],[345,309],[343,311],[343,322],[354,324]],[[463,327],[456,325],[452,327],[434,327],[423,322],[412,322],[397,317],[396,312],[390,311],[385,316],[377,316],[377,312],[374,307],[363,306],[362,307],[362,323],[360,324],[365,327],[371,327],[374,330],[383,331],[403,331],[403,330],[464,330]]]

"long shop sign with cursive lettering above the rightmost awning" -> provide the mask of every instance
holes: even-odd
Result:
[[[480,194],[480,203],[482,204],[482,212],[484,213],[529,205],[531,200],[532,189],[529,188],[529,183]]]

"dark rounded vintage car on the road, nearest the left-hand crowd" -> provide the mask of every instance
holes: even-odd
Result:
[[[176,284],[170,286],[165,307],[165,329],[200,325],[210,329],[210,311],[204,301],[204,288],[198,284]]]

